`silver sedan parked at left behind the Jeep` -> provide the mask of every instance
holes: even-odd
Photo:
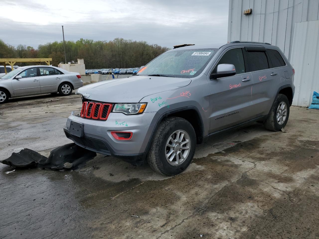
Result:
[[[54,66],[19,67],[0,78],[0,104],[9,98],[59,92],[68,96],[83,86],[80,73]]]

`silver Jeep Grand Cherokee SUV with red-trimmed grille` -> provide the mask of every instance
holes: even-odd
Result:
[[[196,144],[250,122],[285,127],[294,69],[276,46],[235,41],[167,51],[136,76],[78,89],[64,132],[79,146],[176,175]]]

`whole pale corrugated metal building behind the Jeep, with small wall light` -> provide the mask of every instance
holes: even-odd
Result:
[[[319,92],[319,0],[229,0],[228,41],[234,40],[280,47],[296,72],[293,105],[311,104]]]

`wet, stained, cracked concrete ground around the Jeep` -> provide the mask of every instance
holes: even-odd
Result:
[[[80,108],[77,95],[1,105],[1,158],[69,143],[63,126]],[[100,154],[73,171],[0,165],[0,238],[318,238],[318,118],[291,107],[282,132],[216,135],[174,177]]]

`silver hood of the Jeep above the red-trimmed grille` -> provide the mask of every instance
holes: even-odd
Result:
[[[131,76],[83,86],[77,94],[101,102],[137,103],[148,95],[178,89],[190,82],[189,78]]]

